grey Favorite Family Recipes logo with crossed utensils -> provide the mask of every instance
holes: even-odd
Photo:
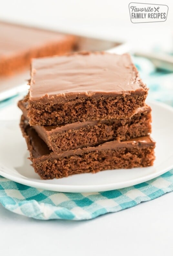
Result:
[[[128,6],[132,23],[162,22],[167,19],[167,5],[130,3]]]

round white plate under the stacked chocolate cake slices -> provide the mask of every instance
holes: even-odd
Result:
[[[152,137],[157,142],[154,166],[106,170],[54,180],[41,180],[34,172],[19,129],[21,113],[15,104],[8,106],[0,111],[0,175],[28,186],[60,192],[107,191],[153,179],[173,168],[173,108],[159,102],[148,104],[152,108]]]

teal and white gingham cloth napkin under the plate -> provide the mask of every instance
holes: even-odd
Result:
[[[150,88],[150,99],[173,106],[173,74],[156,72],[145,59],[134,58]],[[5,102],[6,104],[6,102]],[[1,106],[1,105],[0,105]],[[85,220],[117,212],[173,191],[173,169],[141,184],[106,192],[62,193],[28,187],[0,176],[0,203],[35,219]]]

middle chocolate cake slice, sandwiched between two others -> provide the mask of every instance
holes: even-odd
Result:
[[[27,102],[20,100],[18,107],[27,119]],[[128,119],[76,122],[57,126],[34,125],[37,134],[54,152],[95,146],[110,140],[125,141],[151,133],[151,108],[147,105]]]

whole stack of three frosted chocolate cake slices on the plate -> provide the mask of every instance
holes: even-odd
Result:
[[[80,52],[32,61],[20,127],[42,179],[151,166],[148,89],[128,54]]]

